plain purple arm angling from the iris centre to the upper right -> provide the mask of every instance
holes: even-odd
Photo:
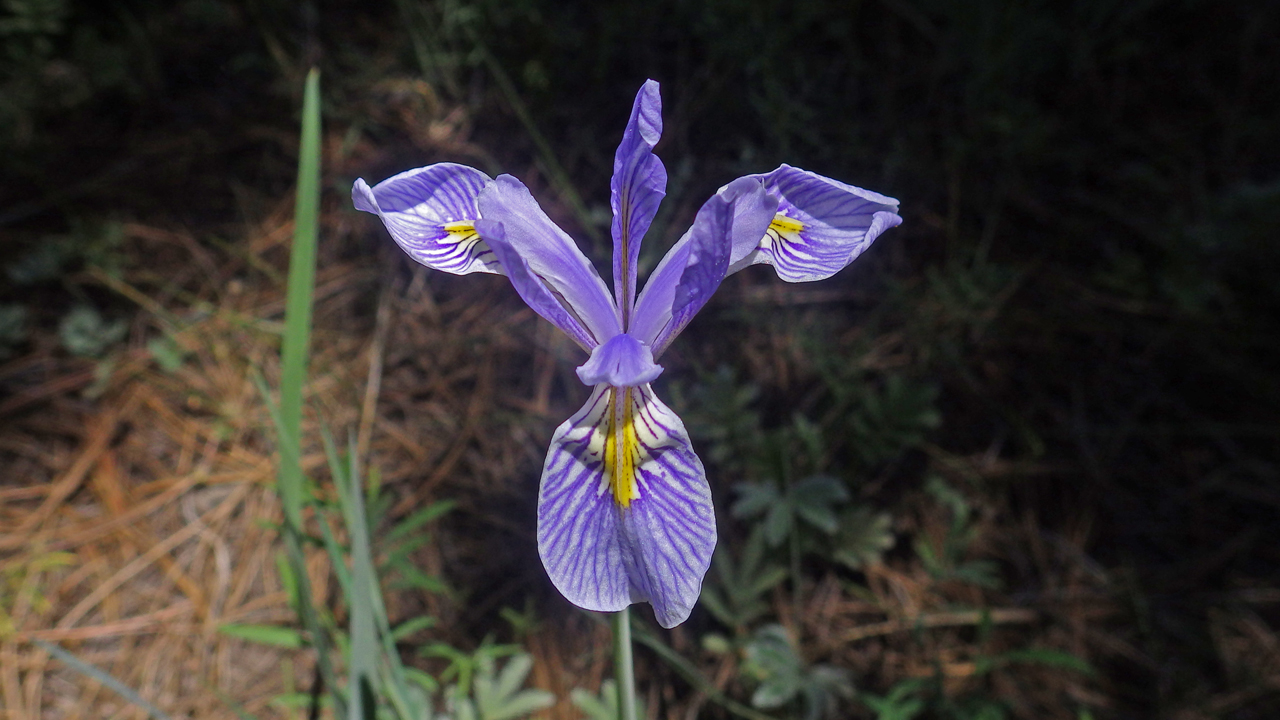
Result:
[[[701,310],[728,269],[736,237],[764,233],[777,201],[758,179],[739,178],[713,195],[689,232],[658,263],[636,301],[631,334],[654,357]]]

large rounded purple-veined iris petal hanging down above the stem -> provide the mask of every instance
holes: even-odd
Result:
[[[648,601],[672,628],[714,548],[710,489],[684,423],[649,386],[596,386],[543,468],[538,551],[556,588],[588,610]]]

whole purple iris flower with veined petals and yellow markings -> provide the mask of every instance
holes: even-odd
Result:
[[[689,618],[716,547],[707,473],[689,433],[649,383],[657,359],[726,275],[773,265],[788,282],[831,277],[897,225],[897,200],[782,165],[739,178],[636,287],[640,241],[666,195],[653,154],[662,135],[658,83],[636,95],[613,160],[613,293],[518,179],[453,163],[374,187],[374,213],[419,263],[454,274],[506,274],[520,297],[590,357],[577,377],[591,397],[556,429],[538,496],[538,551],[570,602],[617,611],[653,605],[672,628]]]

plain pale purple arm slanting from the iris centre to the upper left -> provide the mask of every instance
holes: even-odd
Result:
[[[609,291],[577,245],[543,213],[529,188],[498,176],[477,200],[480,214],[506,229],[507,242],[590,331],[591,347],[622,332]],[[536,307],[535,307],[536,310]]]

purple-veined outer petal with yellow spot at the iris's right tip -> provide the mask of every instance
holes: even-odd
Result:
[[[767,263],[787,282],[820,281],[902,222],[897,200],[817,173],[782,165],[751,177],[778,199],[778,213],[754,250],[735,252],[730,273]]]

